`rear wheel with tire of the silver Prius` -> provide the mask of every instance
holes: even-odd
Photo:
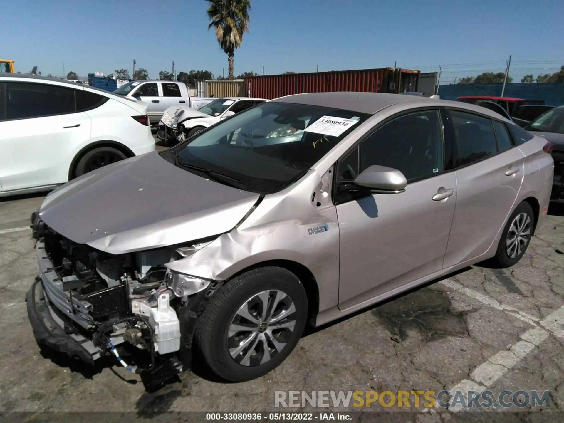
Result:
[[[492,264],[500,268],[515,265],[531,242],[534,225],[535,215],[531,205],[526,201],[521,202],[505,224]]]

